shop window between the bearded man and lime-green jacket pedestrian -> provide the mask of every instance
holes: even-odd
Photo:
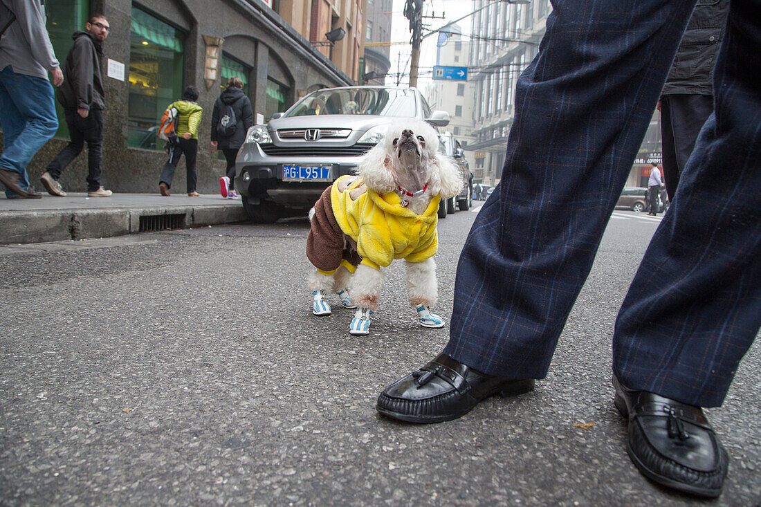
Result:
[[[139,8],[132,8],[129,39],[127,143],[161,149],[156,130],[161,114],[183,92],[185,35]]]

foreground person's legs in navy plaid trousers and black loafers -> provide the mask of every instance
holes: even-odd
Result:
[[[381,414],[456,419],[547,375],[695,3],[553,2],[517,81],[501,182],[460,254],[449,342],[380,394]],[[629,419],[632,462],[697,496],[719,496],[728,470],[702,407],[721,405],[761,326],[758,9],[731,2],[715,114],[613,330],[615,405]]]

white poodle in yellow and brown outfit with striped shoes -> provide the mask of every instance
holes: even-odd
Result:
[[[325,190],[310,211],[307,239],[307,257],[317,268],[309,277],[313,314],[330,315],[324,298],[336,292],[345,308],[357,308],[349,333],[368,334],[383,285],[380,267],[404,259],[409,304],[420,324],[444,326],[430,311],[438,295],[438,206],[460,193],[463,177],[438,145],[428,123],[400,120],[368,151],[358,176],[340,177]]]

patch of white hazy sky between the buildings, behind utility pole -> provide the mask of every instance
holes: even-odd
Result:
[[[399,69],[403,73],[400,85],[409,83],[409,53],[412,49],[409,41],[412,33],[409,31],[409,20],[404,17],[404,4],[406,0],[393,0],[393,14],[391,21],[391,68],[386,78],[387,85],[396,85],[396,73]],[[430,30],[435,30],[472,12],[473,0],[424,0],[423,15],[437,16],[437,18],[423,18],[423,35]],[[440,19],[441,16],[444,19]],[[471,18],[458,21],[457,24],[463,33],[470,33]],[[431,70],[436,65],[436,40],[437,35],[431,35],[423,39],[420,51],[418,88],[424,88],[426,82],[431,81]]]

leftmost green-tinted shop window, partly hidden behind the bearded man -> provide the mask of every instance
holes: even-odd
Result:
[[[90,21],[90,0],[72,0],[71,2],[46,2],[47,30],[50,42],[53,43],[53,51],[63,67],[63,62],[72,49],[74,39],[72,33],[84,30],[84,24]],[[68,126],[63,107],[56,100],[56,114],[58,114],[58,132],[56,136],[68,138]]]

